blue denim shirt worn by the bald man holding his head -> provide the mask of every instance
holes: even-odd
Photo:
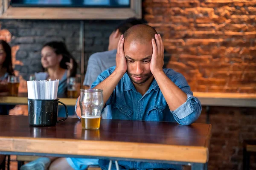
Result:
[[[91,88],[94,88],[104,79],[109,77],[114,70],[115,66],[102,72],[97,80],[93,82]],[[163,69],[163,71],[175,85],[187,94],[187,100],[183,105],[175,111],[170,111],[155,79],[151,83],[148,91],[142,96],[136,91],[128,74],[125,73],[114,89],[111,97],[106,102],[106,105],[111,105],[111,109],[108,110],[107,119],[166,121],[178,122],[181,125],[190,125],[195,122],[201,114],[200,101],[193,96],[193,93],[190,91],[190,87],[182,74],[177,73],[172,69]],[[109,161],[106,160],[99,160],[99,165],[102,169],[107,170],[108,162]],[[119,165],[120,169],[181,169],[180,165],[137,161],[119,161]],[[115,169],[114,165],[113,169]]]

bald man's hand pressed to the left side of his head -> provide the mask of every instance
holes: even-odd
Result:
[[[116,52],[116,71],[118,73],[125,74],[127,70],[126,58],[124,53],[124,36],[121,35],[118,45],[117,45],[117,52]]]

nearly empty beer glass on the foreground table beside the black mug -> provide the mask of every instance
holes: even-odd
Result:
[[[99,129],[103,101],[103,90],[81,89],[79,105],[83,129]]]

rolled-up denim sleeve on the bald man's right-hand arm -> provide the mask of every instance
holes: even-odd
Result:
[[[195,122],[201,114],[202,106],[198,98],[193,96],[190,86],[182,74],[168,76],[187,95],[184,102],[175,111],[171,111],[175,120],[181,125],[190,125]]]

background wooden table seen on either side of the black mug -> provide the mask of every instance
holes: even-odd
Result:
[[[58,96],[61,102],[65,103],[67,106],[75,106],[76,98],[67,98],[67,96]],[[7,105],[27,105],[28,95],[18,94],[18,96],[0,96],[0,104]]]

